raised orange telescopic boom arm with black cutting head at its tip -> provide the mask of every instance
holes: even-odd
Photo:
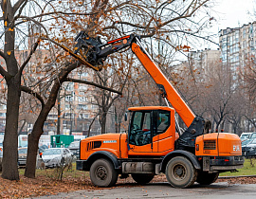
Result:
[[[86,33],[81,32],[77,36],[76,41],[77,45],[75,45],[75,53],[83,51],[82,53],[86,55],[86,57],[83,55],[86,61],[94,66],[102,64],[108,55],[118,52],[123,48],[131,47],[132,51],[137,55],[137,59],[154,79],[162,96],[171,102],[175,111],[180,118],[183,119],[187,127],[192,124],[192,120],[195,118],[192,110],[179,96],[174,89],[174,86],[167,80],[165,75],[156,66],[151,56],[142,47],[139,41],[139,36],[131,34],[109,41],[103,45],[99,38],[90,38]]]

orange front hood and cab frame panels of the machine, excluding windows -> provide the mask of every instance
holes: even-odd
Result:
[[[165,133],[154,136],[153,144],[142,146],[129,145],[126,134],[105,134],[92,136],[81,141],[81,159],[87,159],[91,154],[97,151],[107,151],[115,154],[118,158],[128,158],[129,155],[154,155],[164,156],[174,151],[174,141],[176,139],[174,124],[174,109],[165,106],[145,106],[131,107],[129,111],[140,110],[165,110],[171,112],[171,125]],[[100,146],[101,142],[101,146]],[[99,144],[98,144],[99,143]],[[97,145],[97,146],[96,146]],[[100,147],[99,147],[100,146]]]

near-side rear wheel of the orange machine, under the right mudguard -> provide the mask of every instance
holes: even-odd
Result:
[[[166,178],[174,188],[189,188],[193,185],[197,172],[190,160],[176,156],[166,166]]]

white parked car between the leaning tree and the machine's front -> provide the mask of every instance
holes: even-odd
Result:
[[[61,167],[72,162],[72,153],[65,148],[50,148],[42,154],[46,168]]]

